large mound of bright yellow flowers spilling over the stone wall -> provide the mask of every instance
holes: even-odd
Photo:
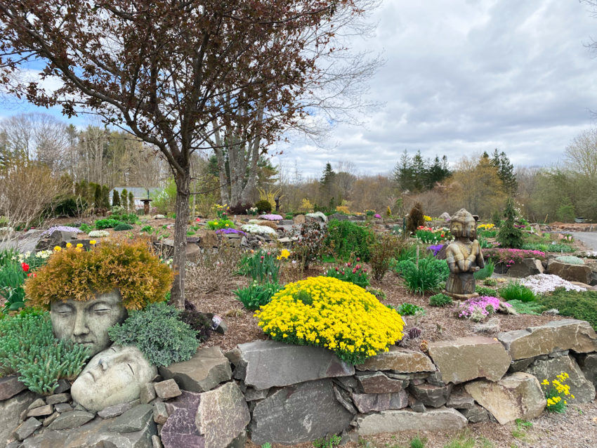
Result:
[[[329,348],[351,364],[388,351],[404,327],[398,312],[373,294],[333,277],[289,283],[255,315],[276,341]]]

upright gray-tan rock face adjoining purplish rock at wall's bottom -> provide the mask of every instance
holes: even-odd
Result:
[[[235,382],[201,394],[195,426],[204,448],[227,447],[251,421],[247,402]]]

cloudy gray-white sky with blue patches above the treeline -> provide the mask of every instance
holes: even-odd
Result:
[[[275,164],[303,177],[320,177],[327,162],[386,174],[405,150],[456,164],[497,148],[515,166],[552,166],[596,125],[597,52],[588,45],[597,16],[584,3],[384,0],[371,20],[373,35],[350,46],[385,61],[368,83],[377,107],[358,111],[358,126],[335,126],[322,145],[294,136],[272,151]],[[33,110],[0,103],[0,117]]]

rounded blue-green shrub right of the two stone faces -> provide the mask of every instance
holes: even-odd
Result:
[[[108,330],[108,336],[118,345],[136,345],[157,367],[190,360],[199,341],[180,313],[166,303],[151,303],[143,310],[131,311],[122,324]]]

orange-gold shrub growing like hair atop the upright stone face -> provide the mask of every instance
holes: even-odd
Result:
[[[87,301],[118,288],[124,307],[140,310],[163,301],[173,281],[171,269],[142,240],[105,241],[90,251],[55,251],[36,272],[25,282],[25,294],[32,305],[46,308],[53,301]]]

